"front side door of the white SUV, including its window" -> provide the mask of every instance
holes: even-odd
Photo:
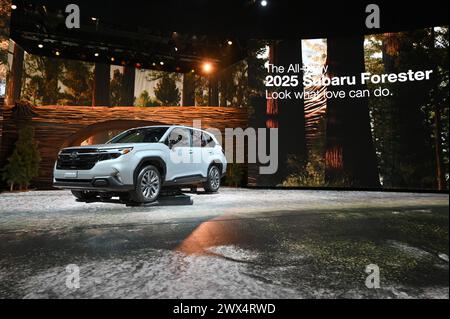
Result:
[[[170,145],[167,180],[195,175],[192,164],[192,135],[189,129],[175,127],[167,137]]]

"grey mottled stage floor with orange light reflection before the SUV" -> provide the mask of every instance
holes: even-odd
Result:
[[[448,195],[224,188],[192,199],[0,194],[0,297],[449,296]],[[366,286],[368,265],[379,289]]]

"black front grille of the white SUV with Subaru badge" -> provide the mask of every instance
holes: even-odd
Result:
[[[62,150],[56,162],[57,169],[89,170],[99,161],[101,154],[94,148]]]

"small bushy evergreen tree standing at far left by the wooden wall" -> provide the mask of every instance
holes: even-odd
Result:
[[[34,130],[29,126],[24,127],[19,131],[16,148],[2,172],[2,178],[9,184],[10,190],[14,190],[15,185],[27,189],[31,179],[39,173],[40,161]]]

